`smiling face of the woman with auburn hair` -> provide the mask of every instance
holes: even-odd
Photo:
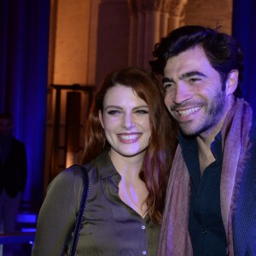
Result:
[[[99,118],[111,150],[125,157],[144,154],[151,135],[148,105],[134,90],[122,84],[110,88]]]

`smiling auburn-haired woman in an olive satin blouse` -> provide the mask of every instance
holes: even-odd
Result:
[[[85,129],[90,191],[76,255],[156,255],[176,131],[150,73],[127,67],[108,75]],[[69,247],[82,187],[73,168],[50,183],[32,255]]]

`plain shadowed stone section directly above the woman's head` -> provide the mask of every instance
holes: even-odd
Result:
[[[98,14],[96,86],[113,69],[127,66],[130,25],[127,0],[102,0]]]

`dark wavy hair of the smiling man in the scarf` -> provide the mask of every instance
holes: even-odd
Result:
[[[238,70],[238,85],[234,95],[241,97],[244,69],[241,45],[230,35],[218,32],[218,29],[182,26],[173,30],[166,38],[162,38],[160,43],[155,44],[153,52],[155,59],[149,61],[152,71],[163,75],[169,58],[195,46],[201,46],[204,49],[208,61],[220,74],[223,84],[230,71]]]

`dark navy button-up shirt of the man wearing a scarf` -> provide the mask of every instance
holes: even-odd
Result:
[[[215,161],[201,176],[195,138],[178,137],[190,175],[189,235],[195,256],[226,255],[226,235],[220,209],[221,133],[212,142]]]

